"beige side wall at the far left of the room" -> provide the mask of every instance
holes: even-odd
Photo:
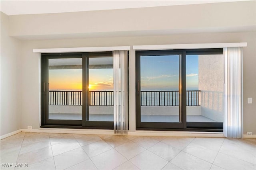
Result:
[[[8,16],[1,12],[1,135],[21,128],[19,40],[8,36]]]

